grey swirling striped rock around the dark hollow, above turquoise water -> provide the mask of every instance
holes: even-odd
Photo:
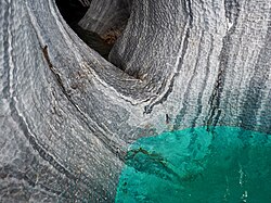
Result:
[[[115,65],[53,0],[0,8],[1,202],[113,202],[128,144],[164,130],[271,132],[268,0],[133,0]]]

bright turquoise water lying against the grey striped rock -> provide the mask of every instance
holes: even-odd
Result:
[[[271,202],[271,135],[206,127],[139,139],[116,203]]]

